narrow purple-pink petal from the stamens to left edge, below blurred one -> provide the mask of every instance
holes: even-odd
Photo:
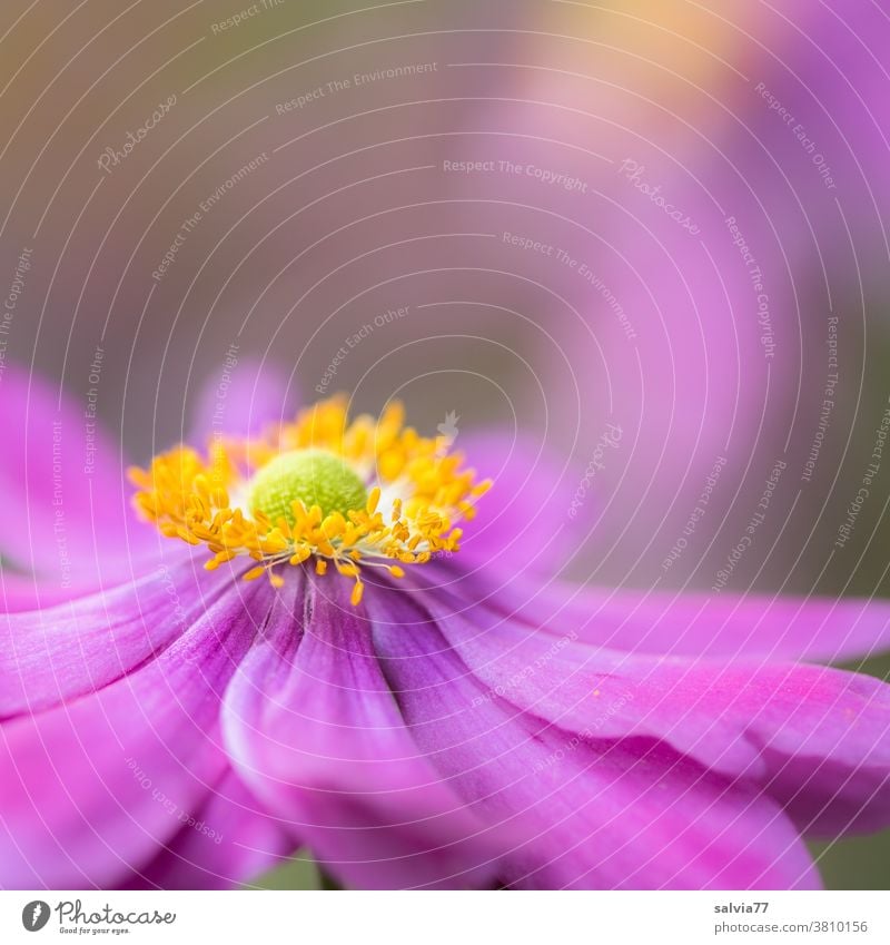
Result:
[[[230,582],[186,558],[105,593],[0,616],[0,717],[101,689],[181,636]]]

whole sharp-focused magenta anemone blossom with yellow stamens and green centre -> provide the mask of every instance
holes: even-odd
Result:
[[[533,578],[533,453],[478,440],[483,499],[447,436],[340,402],[134,472],[152,530],[77,411],[3,387],[3,887],[226,887],[301,845],[366,888],[809,887],[802,835],[890,819],[890,690],[791,661],[886,607]]]

